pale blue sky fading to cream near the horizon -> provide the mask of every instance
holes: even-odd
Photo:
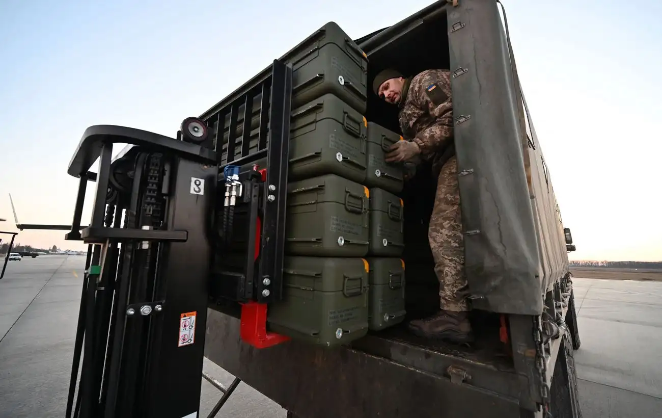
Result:
[[[8,193],[23,223],[71,223],[86,127],[174,136],[328,21],[359,38],[430,3],[1,1],[0,230],[16,230]],[[571,258],[662,260],[662,3],[502,3]],[[17,242],[85,248],[62,231]]]

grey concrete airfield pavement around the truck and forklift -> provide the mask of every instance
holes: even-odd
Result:
[[[9,262],[0,280],[0,417],[64,417],[85,256]],[[662,416],[662,282],[575,279],[585,418]],[[232,376],[205,360],[226,386]],[[220,392],[203,380],[201,417]],[[217,417],[285,417],[242,383]]]

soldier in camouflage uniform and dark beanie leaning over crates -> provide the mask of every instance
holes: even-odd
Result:
[[[404,78],[395,70],[383,70],[373,81],[373,91],[399,107],[402,136],[406,138],[391,147],[386,161],[424,160],[432,164],[438,177],[428,238],[440,283],[440,311],[411,321],[409,329],[420,337],[470,342],[473,333],[468,318],[450,74],[448,70],[426,70]]]

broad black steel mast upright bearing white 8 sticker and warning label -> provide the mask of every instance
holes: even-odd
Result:
[[[175,158],[173,171],[176,176],[165,224],[168,229],[187,229],[190,238],[160,244],[158,278],[166,287],[159,297],[166,304],[159,313],[160,337],[154,340],[159,344],[158,353],[151,352],[148,357],[154,367],[146,376],[150,387],[143,399],[146,413],[140,416],[144,418],[194,416],[200,407],[211,272],[209,219],[216,207],[218,167]],[[191,178],[204,180],[201,195],[189,192]],[[187,314],[186,327],[192,327],[188,329],[193,334],[180,335],[179,327]],[[190,322],[193,315],[195,323]]]

